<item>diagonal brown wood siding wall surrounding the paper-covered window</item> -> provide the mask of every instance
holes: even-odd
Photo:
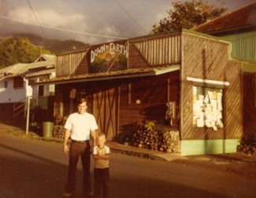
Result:
[[[241,64],[228,61],[228,44],[183,35],[183,63],[181,68],[180,131],[182,139],[241,138],[243,134],[243,87]],[[224,127],[192,127],[193,83],[186,78],[228,81],[224,89]]]

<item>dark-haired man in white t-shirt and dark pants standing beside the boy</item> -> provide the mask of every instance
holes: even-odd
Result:
[[[69,174],[65,185],[64,197],[70,197],[76,187],[76,166],[79,157],[83,165],[83,192],[85,196],[93,196],[91,191],[90,164],[91,149],[95,146],[96,130],[98,129],[95,117],[87,113],[87,102],[82,98],[78,103],[78,112],[72,113],[65,123],[65,138],[63,152],[69,152]],[[68,141],[71,138],[70,151]]]

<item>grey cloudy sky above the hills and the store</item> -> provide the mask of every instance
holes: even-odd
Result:
[[[189,1],[189,0],[188,0]],[[43,38],[98,44],[147,35],[172,0],[0,0],[0,37],[33,33]],[[184,2],[184,0],[182,0]],[[256,0],[208,0],[232,12]]]

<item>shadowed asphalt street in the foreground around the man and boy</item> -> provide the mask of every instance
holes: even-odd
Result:
[[[0,198],[62,197],[69,158],[61,146],[0,134]],[[83,197],[81,175],[79,163],[74,197]],[[111,154],[111,198],[256,197],[255,187],[256,178],[226,168]]]

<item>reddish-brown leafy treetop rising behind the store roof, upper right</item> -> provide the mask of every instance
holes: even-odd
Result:
[[[192,2],[172,2],[173,9],[166,12],[168,17],[160,20],[159,25],[154,24],[151,34],[180,30],[181,28],[191,29],[208,20],[221,16],[227,9],[215,7],[202,0]]]

